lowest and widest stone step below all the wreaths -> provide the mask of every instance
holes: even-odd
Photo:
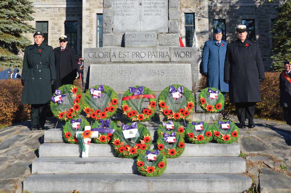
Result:
[[[252,180],[239,174],[37,174],[23,182],[30,193],[241,193]]]

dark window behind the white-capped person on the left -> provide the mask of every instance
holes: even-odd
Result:
[[[65,21],[65,35],[68,38],[67,46],[73,47],[77,54],[77,21]]]

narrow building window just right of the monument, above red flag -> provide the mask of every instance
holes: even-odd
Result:
[[[185,13],[185,40],[186,47],[192,47],[195,30],[194,13]]]

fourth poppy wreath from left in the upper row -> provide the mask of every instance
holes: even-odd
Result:
[[[170,87],[175,88],[176,92],[179,88],[183,88],[180,92],[182,98],[174,99],[170,92]],[[194,97],[192,92],[180,84],[173,84],[166,87],[159,95],[159,107],[162,114],[167,119],[175,121],[184,120],[189,117],[190,113],[194,112]]]

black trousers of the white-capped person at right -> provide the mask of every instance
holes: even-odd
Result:
[[[246,119],[253,121],[255,115],[255,102],[236,102],[235,113],[239,123],[243,123]]]

